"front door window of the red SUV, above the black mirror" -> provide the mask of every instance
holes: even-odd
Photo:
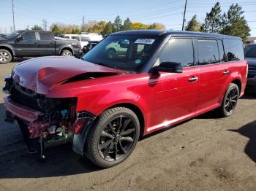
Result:
[[[170,39],[159,55],[159,61],[181,63],[182,66],[192,66],[194,51],[192,39]]]

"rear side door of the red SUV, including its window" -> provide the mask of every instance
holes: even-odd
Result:
[[[202,114],[221,104],[229,82],[222,40],[197,39],[197,66],[200,69],[197,114]]]

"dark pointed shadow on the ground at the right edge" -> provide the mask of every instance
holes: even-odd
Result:
[[[249,138],[249,141],[244,148],[244,152],[256,163],[256,120],[239,129],[229,129],[229,131],[240,133],[242,136]]]

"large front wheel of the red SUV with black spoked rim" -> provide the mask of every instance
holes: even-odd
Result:
[[[135,112],[125,107],[108,109],[91,127],[86,156],[95,165],[110,168],[129,157],[139,136],[140,122]]]

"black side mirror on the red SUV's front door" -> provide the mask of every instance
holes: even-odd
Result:
[[[181,63],[176,62],[163,62],[159,66],[155,66],[154,71],[165,71],[170,73],[182,73],[183,67]]]

